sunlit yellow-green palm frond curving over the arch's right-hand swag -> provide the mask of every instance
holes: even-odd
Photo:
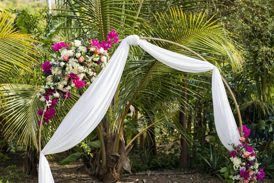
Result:
[[[190,13],[188,18],[182,9],[172,7],[169,14],[157,12],[154,17],[159,28],[155,30],[147,25],[147,35],[185,45],[213,64],[216,64],[216,61],[226,61],[232,65],[234,71],[241,69],[244,63],[241,47],[231,39],[233,35],[223,28],[224,24],[218,23],[219,19],[211,21],[214,15],[205,20],[205,12],[198,15]],[[154,43],[165,49],[195,57],[180,47],[165,42]]]

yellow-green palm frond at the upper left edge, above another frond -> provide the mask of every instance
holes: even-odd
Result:
[[[2,11],[0,20],[0,82],[10,82],[7,78],[21,76],[20,70],[32,73],[38,62],[30,55],[39,56],[31,35],[21,34],[14,28],[10,13]]]

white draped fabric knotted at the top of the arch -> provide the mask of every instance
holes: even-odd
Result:
[[[188,73],[212,71],[212,98],[217,134],[228,149],[229,144],[239,144],[239,133],[233,117],[225,87],[217,67],[209,62],[187,57],[139,39],[137,35],[126,37],[102,69],[98,78],[92,82],[86,92],[80,97],[67,116],[61,122],[51,140],[40,153],[39,183],[54,183],[46,154],[66,151],[79,142],[96,128],[108,110],[108,106],[118,87],[130,45],[139,45],[146,52],[162,63]]]

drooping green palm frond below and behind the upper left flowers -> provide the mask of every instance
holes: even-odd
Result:
[[[21,146],[33,143],[38,147],[37,131],[41,116],[37,114],[37,110],[44,107],[43,102],[39,101],[36,96],[40,89],[41,87],[34,85],[2,84],[0,86],[6,101],[0,113],[1,124],[4,127],[2,129],[3,135],[6,138],[16,138]],[[70,98],[67,98],[63,103],[60,102],[61,105],[55,107],[57,113],[54,118],[49,124],[43,125],[45,130],[43,130],[42,140],[44,142],[49,140],[47,138],[52,136],[67,112],[79,98],[79,95],[71,93]]]

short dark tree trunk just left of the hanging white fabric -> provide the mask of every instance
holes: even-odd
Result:
[[[27,175],[37,175],[37,151],[29,148],[23,157],[23,172]]]

